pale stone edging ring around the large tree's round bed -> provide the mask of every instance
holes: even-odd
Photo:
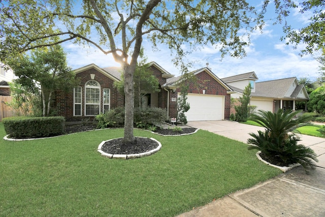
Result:
[[[147,138],[147,137],[140,137],[138,136],[138,138]],[[115,139],[120,139],[120,138],[115,138]],[[106,153],[104,151],[102,151],[102,146],[111,140],[115,140],[115,139],[110,139],[110,140],[106,140],[106,141],[102,141],[101,144],[99,144],[97,151],[101,153],[102,156],[106,157],[106,158],[112,158],[112,159],[135,159],[135,158],[143,158],[146,156],[150,156],[151,154],[154,154],[155,152],[157,152],[158,150],[161,149],[161,143],[159,141],[157,141],[154,138],[149,138],[155,142],[158,143],[158,147],[156,147],[155,149],[143,152],[143,153],[136,153],[136,154],[111,154],[111,153]]]

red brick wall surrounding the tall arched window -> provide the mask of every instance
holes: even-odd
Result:
[[[70,93],[64,93],[62,91],[55,92],[54,107],[57,109],[58,115],[66,117],[67,121],[81,121],[85,118],[89,118],[89,120],[93,119],[93,116],[84,116],[85,83],[92,80],[90,74],[94,74],[95,78],[93,80],[98,81],[101,85],[101,112],[103,111],[103,88],[110,88],[111,109],[124,106],[124,97],[120,95],[118,90],[114,87],[114,81],[112,79],[95,69],[86,70],[76,75],[76,78],[80,79],[79,86],[82,88],[81,116],[73,116],[73,91]]]

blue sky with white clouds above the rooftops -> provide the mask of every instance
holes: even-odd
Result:
[[[258,8],[261,1],[251,0],[254,6]],[[296,28],[301,28],[308,23],[309,13],[298,13],[299,9],[291,11],[288,23]],[[258,81],[268,81],[289,77],[307,77],[311,81],[319,76],[318,61],[311,55],[300,55],[303,45],[298,45],[294,49],[293,45],[286,45],[286,41],[281,41],[282,25],[273,25],[274,8],[270,7],[266,14],[266,25],[263,33],[255,31],[251,34],[251,44],[246,48],[247,55],[243,58],[225,56],[220,58],[220,52],[216,45],[206,46],[199,51],[194,51],[187,59],[194,61],[193,67],[189,71],[194,71],[206,67],[209,63],[211,71],[219,78],[225,78],[233,75],[247,72],[255,72]],[[116,63],[111,54],[105,55],[98,48],[83,47],[78,44],[62,44],[67,52],[68,65],[73,69],[78,69],[89,64],[95,64],[101,68],[120,65]],[[158,45],[158,51],[153,51],[151,44],[146,39],[143,40],[145,55],[148,61],[155,61],[169,73],[179,76],[181,71],[172,63],[171,52],[164,44]]]

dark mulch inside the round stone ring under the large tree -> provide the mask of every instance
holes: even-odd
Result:
[[[123,138],[107,141],[102,151],[110,154],[144,153],[158,147],[158,143],[149,138],[136,137],[136,143],[125,142]]]

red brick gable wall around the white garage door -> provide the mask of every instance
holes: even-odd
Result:
[[[224,118],[229,119],[231,97],[230,94],[227,94],[227,89],[224,88],[218,81],[216,81],[207,72],[204,71],[196,75],[196,79],[194,81],[187,82],[187,84],[189,84],[188,93],[203,94],[202,90],[205,89],[206,95],[224,96]],[[180,92],[179,88],[176,89],[176,97],[177,92]],[[174,104],[170,104],[170,114],[176,115],[176,109],[177,108],[174,106]]]

